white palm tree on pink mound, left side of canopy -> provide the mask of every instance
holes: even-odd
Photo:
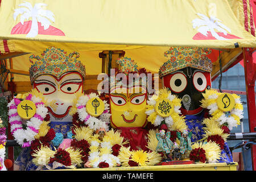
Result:
[[[39,31],[40,31],[39,23],[44,28],[43,29],[43,31],[44,31],[50,27],[51,21],[55,22],[54,14],[49,10],[42,9],[43,6],[47,6],[45,3],[36,3],[35,6],[33,7],[31,5],[31,3],[26,2],[26,1],[23,1],[23,2],[24,3],[21,3],[20,5],[18,5],[18,6],[23,6],[23,7],[20,7],[19,9],[14,10],[13,18],[14,18],[14,20],[16,20],[18,15],[21,14],[20,23],[22,24],[22,26],[24,25],[24,20],[26,20],[26,19],[28,20],[28,19],[32,18],[31,28],[26,35],[28,38],[34,38],[36,35],[39,34]],[[19,25],[19,26],[16,25],[16,27],[13,28],[11,34],[22,34],[17,31],[19,29],[19,31],[24,32],[24,30],[21,30],[22,28],[20,28],[20,26],[21,25]],[[57,28],[55,28],[55,29],[58,30]],[[51,34],[46,33],[46,35],[51,35]]]

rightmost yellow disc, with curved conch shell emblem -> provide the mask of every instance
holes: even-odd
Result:
[[[228,112],[234,108],[235,104],[234,97],[230,93],[222,93],[217,98],[218,109],[221,111]]]

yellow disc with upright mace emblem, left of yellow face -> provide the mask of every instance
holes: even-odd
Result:
[[[105,109],[105,104],[98,97],[90,98],[90,100],[86,104],[87,113],[89,113],[94,117],[98,117],[99,115],[101,115],[104,109]]]

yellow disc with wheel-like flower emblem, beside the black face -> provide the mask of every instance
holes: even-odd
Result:
[[[155,111],[161,117],[169,117],[174,111],[174,105],[168,99],[163,99],[156,102]]]

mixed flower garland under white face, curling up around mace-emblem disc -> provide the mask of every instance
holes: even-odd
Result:
[[[108,130],[110,122],[109,105],[105,104],[104,112],[99,117],[93,117],[86,112],[86,103],[90,98],[98,96],[94,93],[84,95],[76,93],[76,100],[69,114],[73,115],[71,131],[64,139],[61,133],[50,129],[49,122],[43,122],[31,145],[32,162],[36,166],[48,169],[82,167],[89,159],[93,133],[101,128]],[[54,146],[54,147],[53,147]],[[41,154],[47,153],[47,160],[41,161]]]

